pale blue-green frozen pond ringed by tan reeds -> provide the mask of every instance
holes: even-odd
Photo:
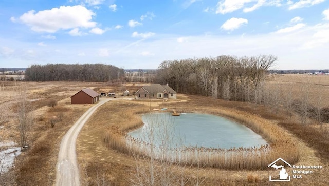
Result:
[[[144,126],[128,133],[157,146],[198,146],[208,148],[260,147],[267,142],[244,125],[224,117],[182,113],[153,113],[142,115]]]

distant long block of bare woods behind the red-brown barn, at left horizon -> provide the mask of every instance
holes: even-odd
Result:
[[[123,69],[104,64],[47,64],[26,69],[26,81],[114,81],[124,76]]]

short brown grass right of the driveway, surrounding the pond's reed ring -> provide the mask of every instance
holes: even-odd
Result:
[[[180,98],[183,97],[180,96]],[[278,126],[277,124],[280,121],[286,121],[286,118],[282,117],[282,113],[280,115],[272,114],[269,109],[261,105],[241,104],[206,97],[199,99],[198,96],[184,96],[184,99],[186,101],[158,102],[158,106],[151,109],[166,107],[178,112],[190,110],[202,113],[211,112],[211,108],[231,111],[233,109],[237,112],[248,112],[262,116],[259,119],[265,119],[265,122],[269,122],[269,125],[273,126]],[[130,113],[135,113],[135,111],[137,113],[147,112],[149,109],[150,106],[147,106],[144,101],[110,101],[102,106],[102,109],[98,110],[96,115],[86,123],[77,142],[78,159],[81,170],[84,170],[83,178],[86,185],[97,185],[100,181],[97,177],[101,175],[104,175],[106,182],[111,185],[130,185],[127,177],[133,177],[136,166],[135,158],[122,153],[120,149],[108,149],[103,142],[104,134],[106,134],[107,129],[116,127],[121,127],[124,131],[126,129],[124,126],[134,124],[134,122],[138,126],[138,118],[134,118]],[[127,112],[127,110],[132,112]],[[295,138],[288,131],[282,131],[282,135],[293,137],[294,146],[300,150],[299,162],[295,164],[323,164],[326,162],[322,161],[320,156],[316,156],[315,150],[301,139]],[[282,155],[284,155],[284,150]],[[144,158],[140,158],[138,161],[148,163],[148,160]],[[179,166],[173,166],[170,170],[176,175],[181,175]],[[194,185],[198,175],[199,179],[204,180],[203,185],[271,185],[268,181],[270,172],[271,170],[267,169],[262,171],[232,171],[210,167],[197,169],[192,166],[184,170],[184,177],[189,180],[187,185]],[[313,181],[317,181],[318,185],[326,185],[328,183],[327,176],[327,169],[323,169],[317,171],[314,175],[305,176],[303,180],[294,180],[290,185],[312,185]]]

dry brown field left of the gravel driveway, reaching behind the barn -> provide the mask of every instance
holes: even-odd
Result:
[[[91,105],[71,105],[70,96],[84,88],[123,93],[139,87],[97,82],[0,82],[0,142],[19,147],[17,107],[22,97],[31,108],[32,128],[27,150],[15,158],[15,168],[0,175],[1,185],[53,185],[63,135]],[[121,91],[122,90],[122,91]],[[56,105],[52,108],[51,102]],[[53,126],[52,126],[53,125]],[[7,146],[1,146],[4,150]],[[9,154],[8,154],[9,155]],[[7,156],[8,156],[7,155]],[[13,155],[13,153],[12,153]],[[1,155],[0,159],[3,158]]]

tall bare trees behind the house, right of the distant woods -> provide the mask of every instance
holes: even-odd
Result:
[[[260,103],[267,72],[277,59],[273,55],[222,55],[166,60],[157,69],[156,82],[168,83],[179,93]]]

